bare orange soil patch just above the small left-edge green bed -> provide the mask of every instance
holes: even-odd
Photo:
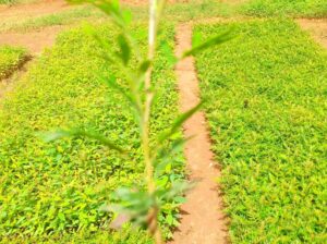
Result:
[[[63,26],[51,26],[29,33],[0,34],[0,45],[25,47],[32,54],[39,54],[45,48],[55,44],[56,37]]]

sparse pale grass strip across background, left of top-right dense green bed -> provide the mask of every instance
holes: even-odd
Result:
[[[133,13],[134,22],[144,22],[147,20],[146,5],[126,5],[126,8]],[[206,17],[231,16],[234,13],[235,9],[223,2],[193,0],[187,3],[168,4],[164,17],[165,22],[175,23],[204,20]],[[27,32],[53,25],[70,25],[89,19],[99,22],[106,20],[106,16],[89,5],[83,5],[37,17],[0,20],[0,32]]]

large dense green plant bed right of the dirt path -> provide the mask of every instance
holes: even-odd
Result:
[[[196,63],[232,242],[325,243],[327,53],[291,21],[234,25]]]

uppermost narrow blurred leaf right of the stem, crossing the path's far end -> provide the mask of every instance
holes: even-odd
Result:
[[[214,47],[218,44],[223,44],[234,37],[233,35],[231,35],[231,33],[232,33],[232,28],[218,35],[218,36],[215,36],[215,37],[208,39],[207,41],[205,41],[203,44],[198,44],[198,45],[192,47],[190,50],[185,51],[181,58],[183,59],[183,58],[186,58],[190,56],[194,56],[207,48]],[[196,37],[196,40],[195,40],[196,42],[198,41],[198,38],[199,38],[199,36]]]

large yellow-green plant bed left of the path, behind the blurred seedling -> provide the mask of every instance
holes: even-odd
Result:
[[[114,30],[108,26],[98,29],[112,42],[114,51]],[[145,50],[146,29],[136,26],[133,32]],[[165,28],[159,39],[160,44],[162,39],[168,40],[168,46],[162,42],[159,51],[172,53],[173,29]],[[98,50],[97,42],[80,28],[60,35],[53,49],[39,58],[27,77],[3,101],[0,111],[0,240],[33,236],[31,240],[38,242],[53,241],[47,237],[52,234],[60,239],[57,242],[71,242],[81,233],[80,241],[92,232],[104,239],[99,228],[107,227],[110,215],[100,212],[99,207],[110,200],[110,193],[118,186],[142,184],[137,127],[124,99],[96,80],[95,73],[119,75],[114,65],[105,66],[100,58],[92,54]],[[161,56],[155,62],[154,81],[158,91],[156,121],[152,124],[154,136],[169,126],[178,113],[169,59]],[[35,136],[37,131],[65,126],[104,133],[129,148],[135,160],[122,159],[90,139],[68,138],[46,144]],[[182,171],[183,157],[178,152],[167,166],[166,175],[158,181],[168,186],[173,179],[182,176]],[[168,204],[165,207],[167,221],[164,217],[161,221],[171,224],[172,213],[175,213],[174,206]],[[138,233],[133,233],[130,243],[136,243],[135,239],[145,243]],[[109,243],[116,242],[119,243]]]

